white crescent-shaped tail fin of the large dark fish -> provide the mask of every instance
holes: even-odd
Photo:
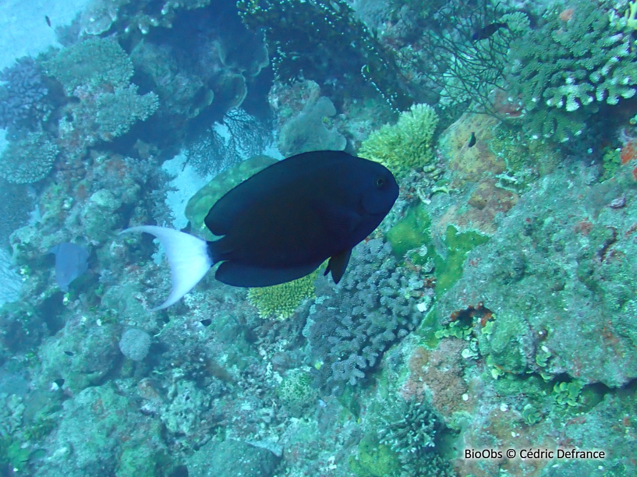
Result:
[[[127,232],[147,232],[154,235],[164,246],[166,257],[168,257],[173,290],[164,303],[150,311],[163,310],[177,303],[213,266],[206,241],[190,234],[166,227],[157,227],[157,225],[131,227],[121,231],[120,234]]]

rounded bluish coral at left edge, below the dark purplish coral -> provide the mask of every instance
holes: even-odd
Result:
[[[44,132],[29,132],[27,137],[10,141],[0,155],[0,175],[9,182],[38,182],[50,173],[59,150]]]

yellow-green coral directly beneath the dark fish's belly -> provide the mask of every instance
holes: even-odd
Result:
[[[275,316],[278,320],[289,318],[296,308],[308,298],[314,297],[314,280],[318,270],[298,280],[273,287],[250,288],[248,300],[259,310],[259,316]]]

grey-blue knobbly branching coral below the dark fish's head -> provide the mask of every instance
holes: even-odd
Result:
[[[355,385],[394,341],[415,329],[422,315],[409,283],[380,239],[354,249],[339,285],[317,280],[308,341],[320,387],[329,392]]]

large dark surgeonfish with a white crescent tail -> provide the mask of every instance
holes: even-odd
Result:
[[[329,259],[325,274],[338,283],[352,248],[378,227],[398,197],[389,169],[342,151],[283,159],[231,189],[204,222],[222,236],[205,241],[165,227],[141,225],[164,245],[173,290],[154,310],[176,303],[208,269],[236,287],[296,280]]]

